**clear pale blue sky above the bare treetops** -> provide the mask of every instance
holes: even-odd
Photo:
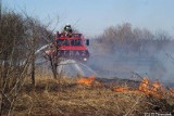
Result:
[[[3,7],[26,11],[51,28],[72,24],[86,36],[97,36],[109,26],[130,23],[133,27],[174,36],[174,0],[2,0]]]

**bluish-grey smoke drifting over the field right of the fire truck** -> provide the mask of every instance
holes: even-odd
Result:
[[[133,73],[137,73],[142,77],[172,86],[174,82],[174,44],[167,42],[163,48],[158,49],[159,44],[156,43],[156,41],[151,44],[145,42],[140,52],[127,49],[128,44],[123,46],[122,49],[104,51],[105,48],[94,39],[90,41],[90,59],[87,64],[97,72],[98,77],[132,79]]]

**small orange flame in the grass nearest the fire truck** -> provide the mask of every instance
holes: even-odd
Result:
[[[77,83],[89,86],[95,80],[95,78],[96,78],[95,75],[89,76],[89,78],[79,78],[77,80]]]

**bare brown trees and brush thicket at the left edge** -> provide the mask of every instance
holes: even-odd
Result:
[[[52,34],[39,21],[13,11],[3,11],[0,26],[0,115],[11,115],[30,66],[35,83],[35,52],[42,34]]]

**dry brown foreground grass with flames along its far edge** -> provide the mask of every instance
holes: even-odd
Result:
[[[119,85],[116,88],[101,85],[95,76],[76,79],[62,77],[61,81],[50,77],[37,78],[35,88],[29,83],[24,86],[14,115],[142,116],[144,113],[173,113],[173,98],[146,94],[146,89],[141,88],[145,86],[142,81],[138,89],[130,90]]]

